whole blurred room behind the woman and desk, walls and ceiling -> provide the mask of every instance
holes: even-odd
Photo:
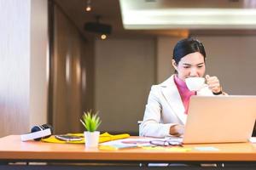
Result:
[[[174,72],[172,49],[195,37],[207,74],[255,95],[256,1],[0,0],[0,136],[49,123],[82,133],[138,134],[150,87]]]

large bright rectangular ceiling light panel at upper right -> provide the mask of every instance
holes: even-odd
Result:
[[[119,2],[125,29],[256,28],[255,8],[160,8],[157,4],[138,7],[131,0]]]

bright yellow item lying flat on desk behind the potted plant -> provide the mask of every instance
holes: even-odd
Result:
[[[56,144],[84,144],[84,133],[68,133],[68,134],[72,134],[74,136],[80,136],[83,139],[80,141],[63,141],[63,140],[56,139],[55,136],[52,135],[47,139],[41,139],[41,141],[49,142],[49,143],[56,143]],[[128,134],[128,133],[122,133],[122,134],[102,133],[102,134],[100,134],[99,143],[108,142],[108,141],[116,140],[116,139],[125,139],[125,138],[129,138],[129,137],[130,137],[130,134]]]

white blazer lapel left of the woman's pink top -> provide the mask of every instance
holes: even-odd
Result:
[[[174,111],[177,117],[183,122],[183,124],[185,124],[187,115],[184,114],[185,109],[183,106],[183,101],[174,82],[174,76],[172,75],[172,77],[161,83],[160,86],[162,89],[162,94],[167,100],[168,105],[170,105],[172,111]]]

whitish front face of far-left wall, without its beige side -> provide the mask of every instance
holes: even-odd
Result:
[[[30,0],[0,1],[0,136],[29,124]]]

